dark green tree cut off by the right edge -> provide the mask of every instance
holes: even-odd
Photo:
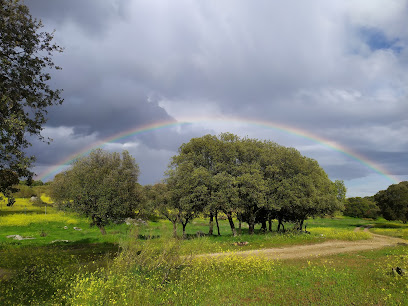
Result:
[[[387,220],[408,221],[408,181],[393,184],[374,196],[383,217]]]

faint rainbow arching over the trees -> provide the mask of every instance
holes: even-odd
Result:
[[[51,166],[49,167],[46,171],[43,173],[39,174],[36,179],[38,180],[43,180],[46,181],[50,179],[52,176],[55,174],[61,172],[64,168],[66,168],[68,165],[72,163],[75,159],[87,155],[90,151],[102,147],[108,143],[115,143],[119,142],[121,140],[124,140],[126,138],[135,136],[135,135],[140,135],[140,134],[145,134],[149,133],[151,131],[156,131],[156,130],[161,130],[161,129],[168,129],[171,127],[182,127],[183,125],[191,125],[191,124],[200,124],[200,123],[229,123],[229,124],[247,124],[251,125],[254,127],[259,127],[262,129],[273,129],[276,131],[284,132],[286,134],[294,135],[297,137],[301,137],[307,140],[311,140],[312,142],[318,143],[323,145],[324,147],[327,147],[331,150],[340,152],[351,159],[356,160],[360,164],[368,167],[369,169],[373,170],[374,172],[380,174],[381,176],[387,178],[390,180],[392,183],[398,183],[400,180],[389,173],[384,167],[381,165],[377,165],[374,162],[370,161],[368,158],[357,154],[350,150],[349,148],[346,148],[342,145],[339,145],[338,143],[335,143],[333,141],[324,139],[318,135],[312,134],[308,131],[301,130],[298,128],[290,127],[281,123],[275,123],[275,122],[269,122],[269,121],[263,121],[263,120],[251,120],[251,119],[243,119],[243,118],[231,118],[231,117],[224,117],[224,118],[187,118],[187,119],[180,119],[180,120],[172,120],[172,121],[160,121],[160,122],[155,122],[155,123],[150,123],[146,124],[143,126],[138,126],[123,132],[120,132],[118,134],[112,135],[110,137],[107,137],[103,140],[94,142],[90,144],[89,146],[81,149],[80,151],[71,154],[64,160],[60,161],[58,165],[56,166]]]

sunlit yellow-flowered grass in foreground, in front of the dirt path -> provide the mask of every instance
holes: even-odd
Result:
[[[372,251],[286,262],[234,255],[186,258],[179,255],[174,240],[161,251],[153,249],[129,248],[108,268],[79,276],[65,301],[72,305],[408,303],[408,279],[390,273],[395,265],[408,267],[406,256],[401,256],[407,247],[389,249],[386,255]]]

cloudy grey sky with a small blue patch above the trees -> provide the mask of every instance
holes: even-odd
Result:
[[[408,1],[25,3],[64,47],[37,179],[102,146],[154,184],[182,143],[232,132],[298,149],[349,197],[408,180]]]

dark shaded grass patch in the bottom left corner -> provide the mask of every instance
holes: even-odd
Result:
[[[0,305],[61,305],[72,282],[107,265],[113,244],[12,247],[0,244]]]

